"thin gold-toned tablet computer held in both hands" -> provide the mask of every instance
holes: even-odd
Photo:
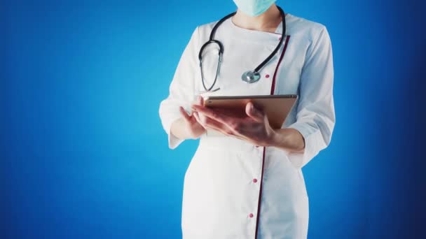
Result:
[[[281,129],[284,120],[298,99],[297,94],[278,94],[260,96],[207,96],[204,106],[221,108],[246,115],[245,106],[252,101],[254,107],[263,110],[268,115],[269,124],[273,129]]]

